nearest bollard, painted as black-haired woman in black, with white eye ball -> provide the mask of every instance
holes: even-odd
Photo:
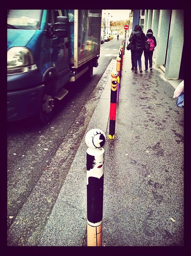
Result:
[[[87,168],[87,245],[102,246],[104,149],[106,136],[91,129],[85,136]]]

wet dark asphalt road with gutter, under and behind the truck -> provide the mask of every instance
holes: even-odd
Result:
[[[69,83],[69,94],[58,102],[54,118],[46,125],[35,117],[7,125],[7,244],[37,245],[59,191],[97,104],[90,99],[95,86],[121,41],[101,45],[99,66],[90,82]],[[90,101],[89,107],[83,106]],[[61,145],[61,146],[60,146]],[[29,217],[28,213],[32,213]],[[22,213],[22,214],[21,214]],[[15,218],[19,221],[12,225]]]

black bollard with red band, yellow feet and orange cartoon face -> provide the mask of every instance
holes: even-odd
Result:
[[[117,103],[117,77],[118,72],[111,72],[111,99],[110,99],[110,126],[109,139],[115,139],[115,119],[116,119],[116,103]]]

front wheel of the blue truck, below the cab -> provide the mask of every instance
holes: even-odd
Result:
[[[54,92],[50,85],[45,86],[38,117],[43,124],[50,121],[54,114]]]

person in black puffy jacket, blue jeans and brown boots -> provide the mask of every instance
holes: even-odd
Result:
[[[143,33],[141,26],[138,25],[135,28],[135,32],[132,36],[132,41],[131,41],[131,43],[133,44],[135,74],[137,74],[137,61],[139,65],[139,71],[140,73],[143,73],[142,65],[141,65],[141,56],[143,54],[145,40],[146,40],[146,36]]]

